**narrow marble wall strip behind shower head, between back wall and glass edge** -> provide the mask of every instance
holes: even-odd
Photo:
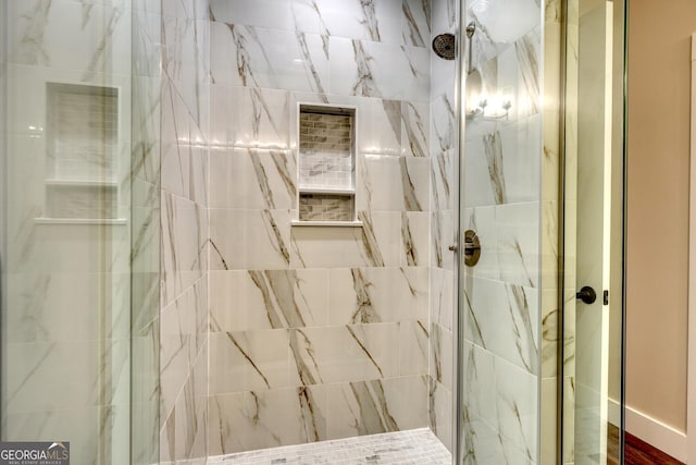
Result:
[[[432,1],[432,36],[458,30],[455,0]],[[431,295],[428,426],[453,451],[455,243],[458,151],[457,63],[432,57],[431,79]]]

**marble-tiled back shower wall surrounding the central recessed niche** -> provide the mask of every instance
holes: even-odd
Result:
[[[211,2],[211,455],[427,425],[427,0]],[[291,228],[299,103],[357,108],[362,228]]]

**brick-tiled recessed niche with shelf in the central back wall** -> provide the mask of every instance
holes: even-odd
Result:
[[[297,225],[359,225],[356,221],[356,110],[299,106]]]

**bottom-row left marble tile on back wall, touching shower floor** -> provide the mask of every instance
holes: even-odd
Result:
[[[323,386],[211,395],[209,454],[325,440],[326,405]]]

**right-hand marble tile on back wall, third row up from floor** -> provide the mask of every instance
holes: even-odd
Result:
[[[337,268],[328,277],[330,325],[427,320],[426,268]]]

